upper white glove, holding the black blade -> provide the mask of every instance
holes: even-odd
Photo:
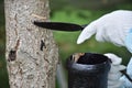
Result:
[[[87,25],[79,35],[77,44],[96,34],[97,41],[108,41],[119,46],[125,46],[124,38],[130,29],[132,29],[132,11],[113,11]]]

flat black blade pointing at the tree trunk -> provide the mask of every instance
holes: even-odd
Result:
[[[74,24],[74,23],[64,23],[64,22],[36,22],[34,24],[41,28],[56,30],[56,31],[81,31],[84,26]]]

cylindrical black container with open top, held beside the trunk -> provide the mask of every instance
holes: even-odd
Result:
[[[78,61],[68,58],[68,88],[107,88],[110,59],[95,53],[85,53]]]

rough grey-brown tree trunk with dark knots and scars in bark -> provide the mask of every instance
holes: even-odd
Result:
[[[10,88],[55,88],[58,50],[50,30],[33,25],[48,20],[48,0],[4,0]]]

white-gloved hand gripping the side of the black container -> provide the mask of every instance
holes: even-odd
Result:
[[[121,65],[122,58],[111,53],[105,55],[108,56],[112,62],[111,69],[108,75],[108,88],[121,88],[124,81],[120,80],[122,76],[120,70],[125,69],[125,66]]]

